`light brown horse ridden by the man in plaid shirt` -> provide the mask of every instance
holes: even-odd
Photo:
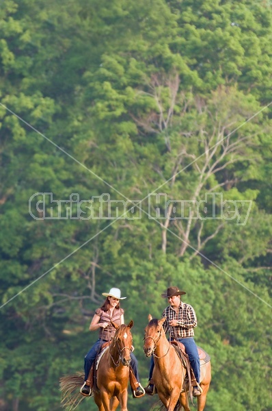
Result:
[[[144,353],[147,357],[154,355],[154,371],[152,379],[157,388],[159,399],[167,411],[190,411],[188,396],[182,393],[186,370],[178,357],[176,349],[169,343],[165,336],[161,320],[148,316],[148,325],[144,336]],[[203,390],[198,397],[198,411],[203,411],[206,403],[206,395],[210,386],[211,366],[210,361],[200,367],[200,386]],[[179,401],[179,403],[178,403]]]

